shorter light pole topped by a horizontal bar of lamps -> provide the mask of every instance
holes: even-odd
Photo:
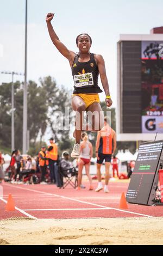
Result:
[[[14,126],[14,75],[24,76],[22,73],[14,72],[14,71],[2,71],[1,74],[12,75],[12,83],[11,83],[11,151],[15,149],[15,126]]]

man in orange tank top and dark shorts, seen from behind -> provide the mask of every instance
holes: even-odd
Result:
[[[112,147],[112,143],[114,147]],[[97,133],[96,140],[96,157],[97,157],[97,178],[98,186],[96,192],[103,189],[101,182],[101,165],[105,160],[105,186],[104,192],[108,193],[108,182],[109,182],[109,169],[111,162],[111,155],[115,153],[116,150],[116,132],[110,127],[107,118],[104,118],[104,127],[101,131]]]

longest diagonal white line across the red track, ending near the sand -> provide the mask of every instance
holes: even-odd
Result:
[[[93,203],[85,202],[85,201],[82,201],[82,200],[74,199],[74,198],[71,198],[71,197],[60,196],[59,194],[52,194],[52,193],[42,192],[42,191],[38,191],[38,190],[30,190],[29,188],[17,187],[17,186],[12,186],[12,185],[5,185],[5,186],[15,187],[15,188],[19,188],[21,190],[28,190],[28,191],[33,191],[33,192],[42,193],[42,194],[49,194],[51,196],[53,195],[54,197],[60,197],[60,198],[64,198],[64,199],[69,199],[69,200],[72,200],[72,201],[75,201],[75,202],[89,204],[89,205],[94,205],[94,206],[98,206],[98,207],[104,208],[104,209],[112,209],[112,210],[116,210],[116,211],[127,212],[128,214],[135,214],[135,215],[140,215],[140,216],[145,216],[145,217],[153,217],[151,215],[140,214],[140,213],[137,213],[137,212],[126,211],[126,210],[121,210],[121,209],[112,208],[112,207],[108,208],[107,206],[103,206],[103,205],[99,205],[99,204],[93,204]]]

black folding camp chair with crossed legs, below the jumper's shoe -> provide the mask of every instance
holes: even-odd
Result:
[[[78,171],[75,167],[68,170],[63,170],[60,167],[60,175],[62,177],[62,188],[65,188],[70,184],[73,188],[78,186]]]

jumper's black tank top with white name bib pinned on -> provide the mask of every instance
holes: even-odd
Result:
[[[91,53],[88,62],[79,62],[79,53],[74,57],[72,64],[72,75],[74,80],[73,94],[76,93],[102,93],[98,86],[98,66],[94,54]]]

